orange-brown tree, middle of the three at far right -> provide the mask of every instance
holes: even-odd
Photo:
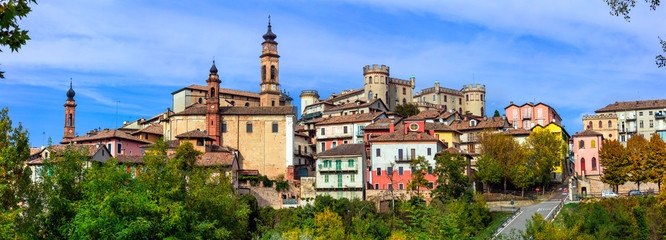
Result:
[[[638,185],[648,180],[648,141],[641,135],[635,135],[627,141],[627,160],[629,161],[628,180]]]

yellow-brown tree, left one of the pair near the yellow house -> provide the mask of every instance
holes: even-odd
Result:
[[[506,193],[507,183],[511,179],[511,170],[518,162],[521,162],[520,159],[525,156],[525,150],[510,135],[490,131],[480,134],[479,144],[481,153],[492,157],[499,164],[504,193]]]

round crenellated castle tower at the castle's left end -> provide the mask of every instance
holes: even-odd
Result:
[[[393,109],[395,102],[391,101],[389,94],[389,67],[377,64],[365,65],[363,67],[363,78],[365,79],[365,98],[368,102],[379,98],[389,109]]]

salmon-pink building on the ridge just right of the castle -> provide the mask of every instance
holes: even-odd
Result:
[[[562,118],[557,111],[544,103],[525,103],[521,106],[509,104],[504,108],[506,120],[513,128],[530,130],[536,125],[546,126],[549,123],[562,125]]]

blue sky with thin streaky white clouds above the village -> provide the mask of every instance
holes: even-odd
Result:
[[[281,89],[297,106],[302,90],[325,98],[362,88],[371,64],[414,75],[415,91],[484,84],[488,115],[546,103],[570,134],[608,104],[665,98],[654,57],[666,14],[643,1],[630,22],[602,0],[38,2],[20,21],[32,40],[0,48],[0,107],[32,146],[62,139],[70,79],[78,134],[172,108],[171,93],[205,85],[213,60],[221,87],[259,92],[268,15]]]

